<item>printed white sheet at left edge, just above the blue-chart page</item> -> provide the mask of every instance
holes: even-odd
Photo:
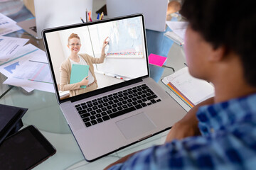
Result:
[[[0,61],[9,60],[12,56],[28,42],[25,38],[11,38],[0,36]]]

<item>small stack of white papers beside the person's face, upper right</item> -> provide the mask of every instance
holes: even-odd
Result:
[[[178,45],[184,45],[186,28],[188,27],[188,22],[183,21],[166,21],[167,26],[171,28],[172,31],[166,32],[164,35],[166,37],[174,40]]]

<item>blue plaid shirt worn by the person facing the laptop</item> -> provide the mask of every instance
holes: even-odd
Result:
[[[256,94],[198,109],[201,136],[134,154],[110,169],[256,169]]]

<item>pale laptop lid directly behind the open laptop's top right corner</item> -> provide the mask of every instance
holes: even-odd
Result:
[[[143,13],[146,29],[164,31],[168,0],[107,0],[107,17]]]

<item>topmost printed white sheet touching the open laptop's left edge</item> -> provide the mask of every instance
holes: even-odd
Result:
[[[11,77],[4,81],[4,84],[55,92],[48,63],[32,62],[31,60],[19,67]]]

